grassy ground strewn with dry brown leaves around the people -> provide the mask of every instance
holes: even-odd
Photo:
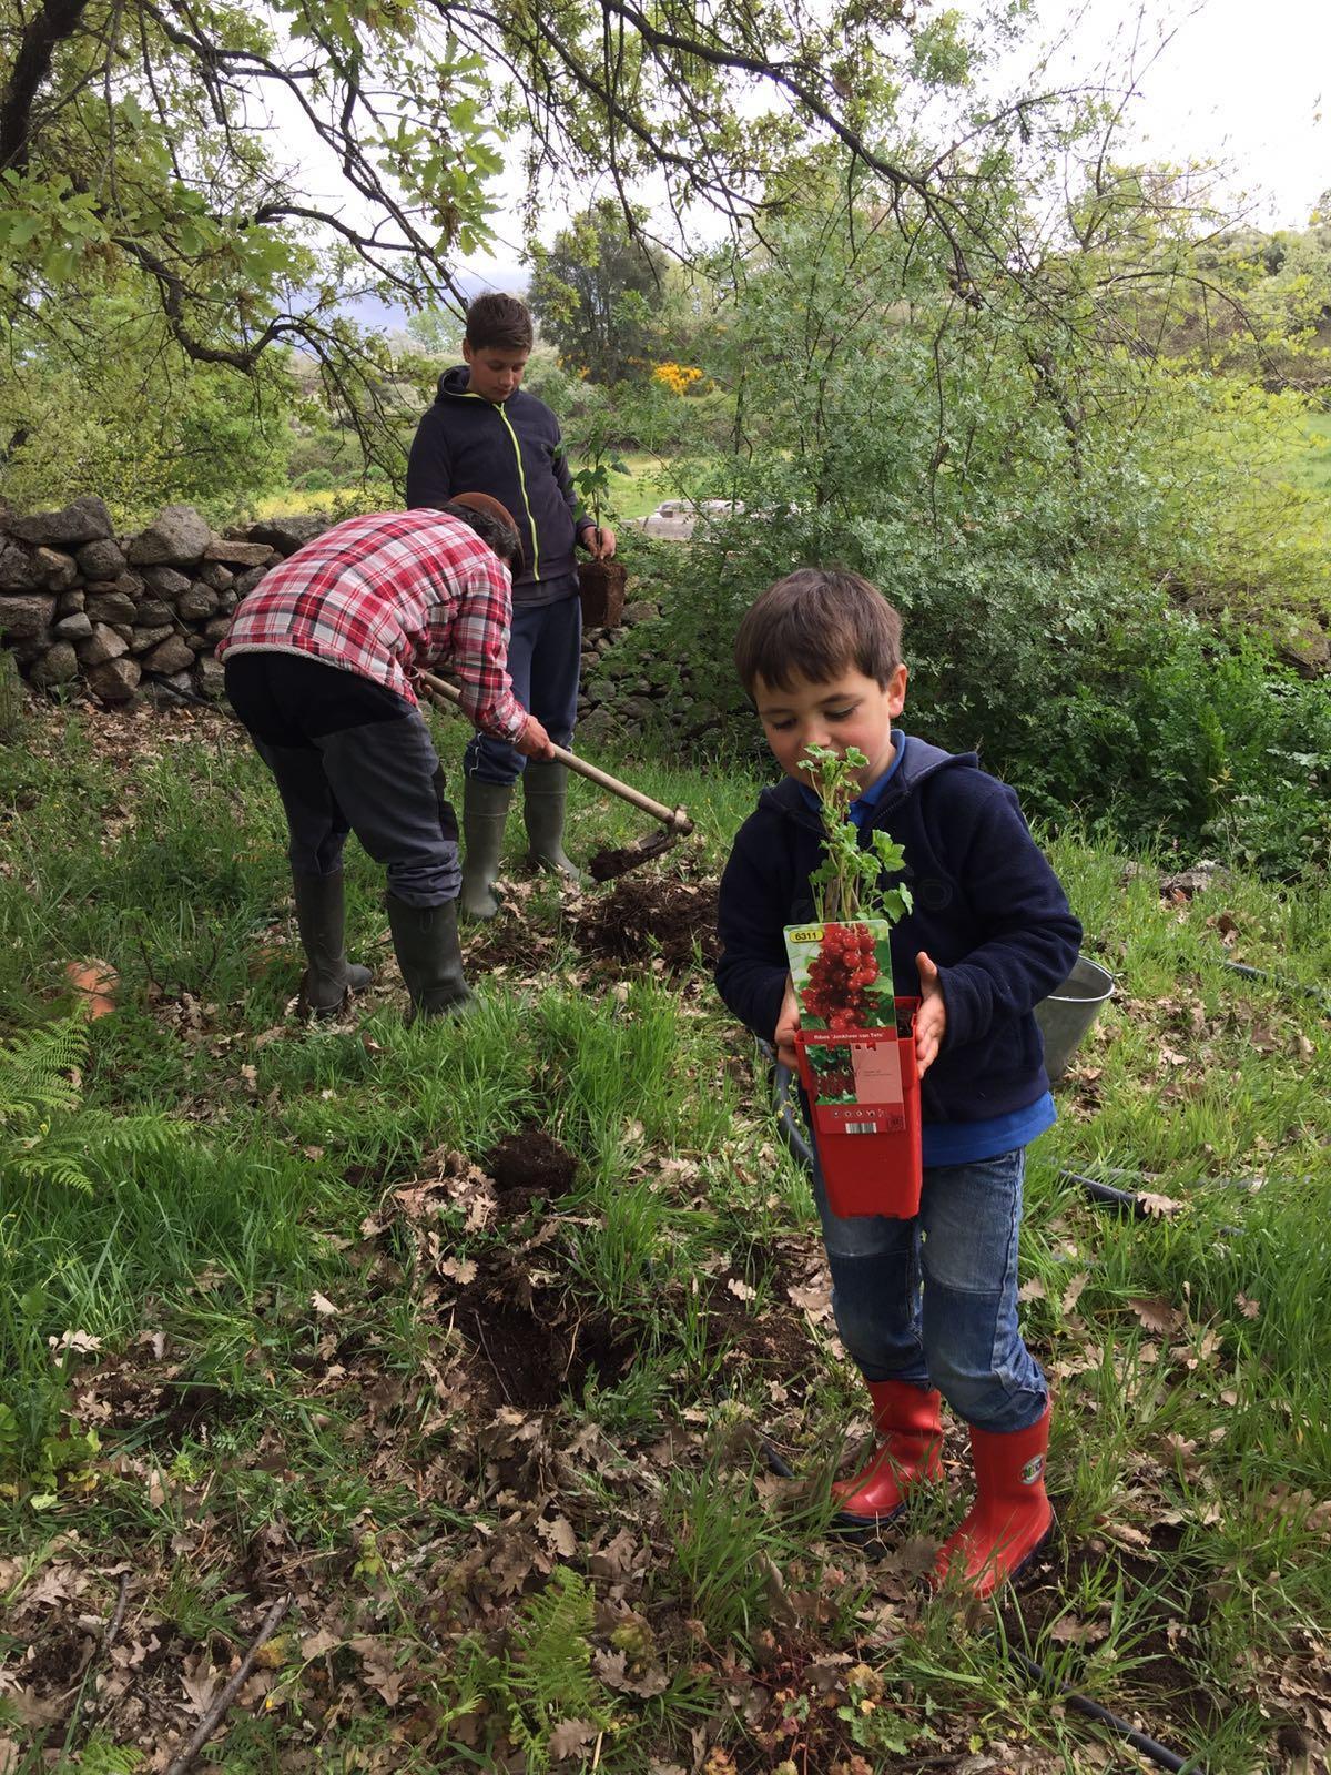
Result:
[[[463,738],[438,722],[454,781]],[[756,781],[603,761],[689,806],[660,875],[705,882]],[[580,781],[571,825],[584,856],[642,831]],[[211,1750],[238,1775],[1136,1766],[1097,1761],[1004,1638],[1212,1775],[1276,1766],[1281,1729],[1315,1745],[1331,1024],[1225,962],[1324,983],[1327,893],[1228,877],[1173,903],[1150,859],[1051,850],[1118,996],[1029,1173],[1063,1562],[992,1633],[912,1582],[957,1519],[957,1431],[882,1560],[825,1534],[864,1400],[752,1042],[701,967],[591,957],[554,889],[520,889],[522,919],[470,939],[502,950],[488,982],[472,966],[474,1015],[408,1030],[350,847],[350,948],[382,982],[302,1028],[280,811],[236,733],[30,722],[0,753],[0,1017],[30,1049],[91,955],[119,1005],[66,1069],[73,1104],[25,1111],[0,1061],[14,1766],[147,1766],[197,1720],[185,1679],[225,1681],[287,1589]],[[500,1214],[476,1161],[532,1124],[571,1189]],[[41,1170],[66,1150],[80,1177]],[[1065,1170],[1150,1173],[1161,1216],[1106,1214]],[[122,1578],[117,1644],[80,1663]]]

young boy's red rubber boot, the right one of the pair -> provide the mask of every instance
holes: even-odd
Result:
[[[1026,1431],[996,1434],[971,1425],[976,1500],[962,1526],[944,1541],[933,1564],[933,1585],[962,1583],[978,1598],[1015,1578],[1054,1532],[1045,1496],[1049,1406]]]

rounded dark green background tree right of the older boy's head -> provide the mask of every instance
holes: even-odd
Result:
[[[635,215],[630,231],[623,208],[602,197],[561,229],[554,245],[532,247],[532,314],[561,362],[593,382],[614,383],[651,369],[666,261],[642,238],[642,222]]]

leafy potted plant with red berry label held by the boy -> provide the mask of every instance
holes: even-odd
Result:
[[[786,955],[800,1005],[795,1033],[800,1085],[834,1214],[909,1218],[919,1209],[918,999],[893,990],[893,925],[910,889],[893,882],[905,856],[887,832],[862,841],[850,818],[854,746],[811,746],[802,760],[818,792],[823,857],[809,875],[815,919],[786,927]]]

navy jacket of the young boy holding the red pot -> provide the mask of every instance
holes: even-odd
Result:
[[[1031,838],[1017,797],[980,770],[907,738],[877,808],[861,827],[905,852],[898,877],[914,911],[893,928],[900,998],[919,994],[916,955],[939,969],[948,1031],[921,1083],[923,1120],[983,1122],[1024,1109],[1049,1090],[1033,1006],[1072,973],[1081,925]],[[772,1040],[790,964],[783,928],[813,919],[809,875],[822,825],[786,777],[758,797],[721,880],[717,989],[756,1035]]]

